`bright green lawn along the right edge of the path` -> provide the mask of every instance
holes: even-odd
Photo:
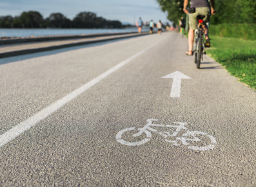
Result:
[[[212,28],[211,28],[212,29]],[[207,50],[240,82],[256,89],[256,40],[243,40],[210,35],[211,48]]]

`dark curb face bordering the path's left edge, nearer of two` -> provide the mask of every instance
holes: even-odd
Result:
[[[94,44],[97,42],[106,42],[106,41],[110,41],[110,40],[128,39],[128,38],[132,38],[132,37],[140,37],[140,36],[149,35],[149,34],[150,33],[142,33],[140,35],[138,34],[138,35],[133,35],[133,36],[124,36],[124,37],[111,38],[111,39],[93,40],[93,41],[88,41],[88,42],[77,42],[77,43],[71,43],[71,44],[63,44],[63,45],[59,45],[59,46],[49,46],[49,47],[45,47],[45,48],[23,49],[23,50],[19,50],[19,51],[10,51],[10,52],[6,52],[6,53],[0,53],[0,58],[14,57],[17,55],[26,55],[26,54],[30,54],[30,53],[50,51],[50,50],[61,49],[61,48],[69,48],[69,47],[74,47],[74,46],[82,46],[82,45],[86,45],[86,44]]]

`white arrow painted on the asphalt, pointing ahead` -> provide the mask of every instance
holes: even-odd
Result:
[[[184,75],[179,71],[175,71],[166,76],[162,76],[162,78],[173,78],[172,82],[172,91],[170,94],[171,98],[180,98],[181,97],[181,80],[183,79],[192,79],[189,76]]]

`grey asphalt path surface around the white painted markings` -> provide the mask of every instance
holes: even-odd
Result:
[[[201,69],[185,55],[179,33],[146,35],[0,60],[0,134],[42,111],[120,62],[143,51],[0,148],[0,186],[256,186],[256,92],[204,55]],[[180,71],[181,97],[170,98]],[[148,119],[186,123],[217,143],[193,150],[165,141],[127,142]],[[188,132],[182,129],[177,137]],[[195,147],[211,142],[187,141]],[[175,137],[168,137],[174,141]],[[193,138],[193,137],[190,137]]]

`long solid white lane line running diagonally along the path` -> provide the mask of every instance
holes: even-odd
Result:
[[[158,42],[161,42],[161,40],[158,41]],[[158,42],[155,42],[155,44],[157,44]],[[22,134],[26,130],[28,130],[31,127],[33,127],[36,123],[38,123],[39,121],[43,120],[44,118],[46,118],[47,116],[49,116],[53,112],[57,111],[57,109],[62,107],[64,104],[70,102],[75,97],[79,96],[79,94],[83,93],[84,91],[86,91],[87,89],[92,87],[93,85],[97,84],[98,82],[100,82],[101,80],[106,78],[106,76],[108,76],[111,73],[117,71],[117,69],[119,69],[120,67],[123,67],[124,65],[128,64],[128,62],[131,62],[134,58],[138,57],[139,55],[144,53],[146,50],[152,48],[155,44],[153,44],[152,46],[149,46],[146,49],[143,49],[139,53],[133,55],[132,57],[130,57],[130,58],[126,59],[126,60],[124,60],[123,62],[120,62],[119,64],[117,64],[116,66],[112,67],[111,69],[108,69],[108,71],[106,71],[105,73],[99,75],[97,78],[94,78],[94,80],[91,80],[90,82],[84,84],[83,86],[79,87],[79,89],[76,89],[72,93],[64,96],[64,98],[58,100],[57,102],[55,102],[52,105],[46,107],[45,109],[43,109],[42,111],[38,112],[34,116],[28,118],[27,120],[23,121],[22,123],[19,123],[19,125],[16,125],[12,129],[8,130],[7,132],[5,132],[5,134],[2,134],[0,136],[0,147],[5,145],[6,143],[11,141],[12,139],[15,139],[17,136],[19,136],[20,134]]]

